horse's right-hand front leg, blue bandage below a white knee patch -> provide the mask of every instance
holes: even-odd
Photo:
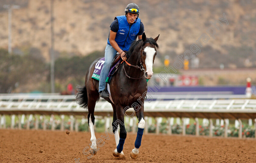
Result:
[[[143,107],[143,105],[136,112],[136,116],[139,120],[139,124],[138,124],[137,137],[136,137],[135,144],[134,144],[135,147],[130,153],[130,156],[133,159],[136,159],[136,158],[139,157],[139,147],[140,147],[140,144],[141,144],[141,139],[142,139],[143,131],[144,131],[144,128],[145,128],[144,107]]]

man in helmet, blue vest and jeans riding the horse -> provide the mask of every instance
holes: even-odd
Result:
[[[130,3],[124,11],[125,15],[115,17],[115,20],[110,25],[108,44],[105,48],[105,62],[99,80],[100,97],[109,97],[105,88],[105,81],[116,53],[118,52],[123,60],[126,59],[124,51],[129,50],[130,44],[137,39],[137,36],[141,39],[144,32],[144,25],[138,18],[139,6],[135,3]]]

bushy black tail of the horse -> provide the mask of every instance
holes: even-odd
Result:
[[[87,108],[88,105],[88,97],[87,97],[87,89],[84,87],[77,86],[77,94],[76,94],[76,102],[80,107]]]

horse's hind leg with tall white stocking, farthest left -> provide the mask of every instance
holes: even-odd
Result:
[[[98,97],[93,97],[91,95],[88,95],[88,125],[90,127],[90,131],[91,131],[91,151],[93,151],[94,155],[97,153],[97,151],[99,150],[99,148],[97,149],[97,144],[96,144],[96,136],[94,134],[94,108],[95,108],[95,104],[96,101],[98,99]]]

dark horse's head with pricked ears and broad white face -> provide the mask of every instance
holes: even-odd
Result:
[[[140,58],[142,66],[144,67],[146,79],[150,79],[153,75],[152,67],[156,56],[156,48],[158,48],[158,44],[156,43],[158,37],[159,35],[154,39],[152,37],[147,38],[145,33],[142,34],[143,44],[141,48]]]

